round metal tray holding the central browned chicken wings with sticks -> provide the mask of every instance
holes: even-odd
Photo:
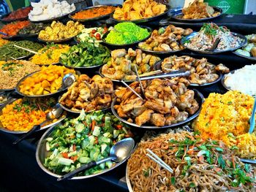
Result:
[[[163,128],[176,128],[176,127],[178,127],[178,126],[183,126],[183,125],[189,123],[189,121],[191,121],[191,120],[197,118],[197,116],[198,116],[199,113],[200,113],[200,110],[201,110],[201,107],[202,107],[202,104],[203,104],[203,99],[204,99],[204,97],[203,97],[202,93],[200,93],[200,92],[197,91],[196,89],[192,89],[192,90],[195,91],[195,100],[198,102],[198,104],[199,104],[199,106],[200,106],[199,109],[197,110],[197,112],[195,112],[194,115],[189,115],[189,118],[187,118],[187,120],[183,120],[183,121],[181,121],[181,122],[172,124],[172,125],[170,125],[170,126],[162,126],[162,127],[151,126],[151,125],[138,126],[138,125],[135,124],[135,123],[130,123],[130,122],[128,122],[127,120],[124,120],[123,118],[121,118],[121,117],[117,114],[116,110],[114,109],[114,105],[116,104],[116,98],[113,99],[113,101],[112,101],[111,110],[112,110],[112,112],[113,112],[113,115],[115,115],[116,118],[118,118],[118,120],[121,120],[123,123],[126,123],[126,124],[128,124],[129,126],[138,127],[138,128],[146,128],[146,129],[151,129],[151,130],[154,130],[154,129],[163,129]]]

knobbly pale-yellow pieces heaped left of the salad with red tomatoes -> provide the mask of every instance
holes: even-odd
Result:
[[[39,39],[45,41],[67,39],[78,35],[83,28],[82,24],[70,20],[67,22],[67,25],[53,21],[45,30],[40,31]]]

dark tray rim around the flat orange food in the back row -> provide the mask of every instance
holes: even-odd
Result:
[[[97,8],[97,7],[106,7],[106,6],[121,7],[121,4],[99,4],[97,6],[86,7],[86,9],[80,9],[78,11],[72,12],[72,14],[70,13],[69,14],[69,19],[72,19],[72,20],[75,20],[75,21],[79,21],[79,22],[89,22],[89,21],[102,20],[102,19],[105,19],[105,18],[109,18],[110,15],[113,14],[114,11],[110,12],[107,15],[101,15],[101,16],[96,17],[96,18],[88,18],[88,19],[75,19],[75,18],[72,18],[72,15],[74,15],[77,12],[80,12],[80,11],[83,11],[83,10],[87,10],[87,9],[94,9],[94,8]]]

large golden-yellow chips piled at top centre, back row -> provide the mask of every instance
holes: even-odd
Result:
[[[123,7],[117,7],[113,18],[116,20],[139,20],[161,15],[166,11],[165,4],[159,4],[154,0],[127,0]]]

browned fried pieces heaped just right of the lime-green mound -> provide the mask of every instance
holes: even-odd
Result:
[[[180,40],[182,37],[192,34],[192,32],[191,28],[184,29],[170,25],[167,28],[155,29],[151,37],[145,42],[140,42],[138,46],[143,50],[153,50],[155,52],[184,50]]]

